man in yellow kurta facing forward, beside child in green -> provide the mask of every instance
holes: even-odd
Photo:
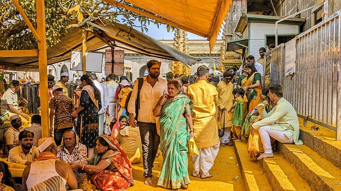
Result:
[[[233,146],[230,142],[231,135],[231,127],[232,127],[232,118],[229,118],[229,114],[227,110],[231,108],[233,105],[233,73],[231,71],[225,71],[223,74],[224,78],[221,82],[218,83],[218,88],[216,89],[218,92],[218,114],[220,115],[220,127],[219,131],[224,131],[224,136],[219,137],[220,146],[224,147],[225,145]]]

